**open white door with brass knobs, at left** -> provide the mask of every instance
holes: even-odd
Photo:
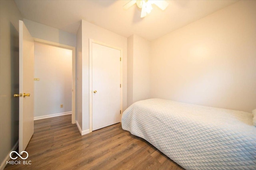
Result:
[[[34,133],[34,39],[19,21],[19,152]]]

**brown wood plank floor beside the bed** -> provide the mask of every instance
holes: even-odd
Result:
[[[121,123],[81,136],[71,115],[34,121],[26,151],[31,164],[7,164],[5,169],[183,169],[144,139],[124,131]]]

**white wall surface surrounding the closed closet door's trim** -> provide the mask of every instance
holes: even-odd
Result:
[[[82,70],[77,70],[82,75],[82,82],[78,81],[82,84],[82,131],[89,130],[89,39],[123,50],[123,110],[127,107],[127,38],[82,20]]]

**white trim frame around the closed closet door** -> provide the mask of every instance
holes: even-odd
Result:
[[[120,110],[121,113],[123,112],[122,110],[122,105],[123,105],[123,49],[107,44],[107,43],[103,43],[100,41],[96,41],[94,39],[90,39],[89,38],[89,133],[92,132],[92,43],[96,43],[99,45],[103,45],[106,47],[110,47],[112,49],[116,49],[120,51],[120,57],[121,57],[121,61],[120,61],[120,83],[121,83],[121,88],[120,88]],[[121,122],[121,119],[120,119]]]

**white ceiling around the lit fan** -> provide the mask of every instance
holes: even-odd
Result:
[[[237,0],[169,0],[162,11],[153,5],[145,18],[132,6],[123,10],[129,0],[15,0],[22,16],[64,31],[75,33],[80,21],[129,37],[139,35],[148,40],[161,37],[174,29],[203,18]]]

